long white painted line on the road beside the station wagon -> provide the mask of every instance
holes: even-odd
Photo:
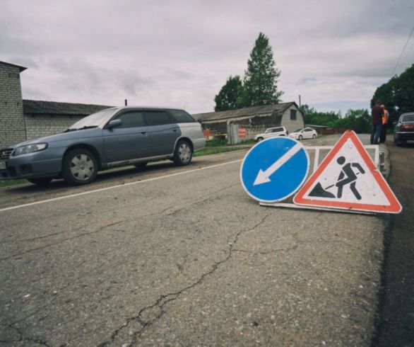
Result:
[[[59,196],[59,198],[52,198],[52,199],[47,199],[47,200],[35,201],[35,203],[28,203],[28,204],[23,204],[23,205],[16,205],[16,206],[11,206],[11,207],[5,207],[5,208],[0,209],[0,212],[9,211],[9,210],[15,210],[16,208],[20,208],[20,207],[28,207],[28,206],[32,206],[32,205],[39,205],[39,204],[42,204],[42,203],[51,203],[52,201],[63,200],[63,199],[67,199],[67,198],[74,198],[76,196],[81,196],[81,195],[86,195],[86,194],[91,194],[91,193],[102,192],[104,190],[110,190],[110,189],[114,189],[114,188],[121,188],[121,187],[126,187],[126,186],[133,186],[134,184],[146,183],[146,182],[150,182],[150,181],[157,181],[157,180],[160,180],[162,178],[169,178],[169,177],[174,177],[174,176],[179,176],[179,175],[184,175],[184,174],[191,174],[192,172],[196,172],[196,171],[201,171],[201,170],[206,170],[206,169],[213,169],[215,167],[224,166],[224,165],[228,165],[228,164],[235,164],[235,163],[238,163],[238,162],[240,162],[242,160],[243,159],[238,159],[238,160],[233,160],[233,161],[227,161],[226,163],[222,163],[222,164],[215,164],[215,165],[211,165],[211,166],[205,166],[205,167],[202,167],[202,168],[199,168],[199,169],[193,169],[193,170],[188,170],[188,171],[176,172],[175,174],[169,174],[169,175],[164,175],[164,176],[159,176],[159,177],[147,178],[147,179],[144,179],[142,181],[129,182],[129,183],[124,183],[124,184],[118,184],[117,186],[111,186],[111,187],[106,187],[106,188],[89,190],[89,191],[83,192],[83,193],[76,193],[76,194],[72,194],[72,195]]]

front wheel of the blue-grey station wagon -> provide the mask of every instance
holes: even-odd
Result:
[[[62,176],[72,186],[90,183],[97,175],[97,160],[88,149],[76,148],[66,153]]]

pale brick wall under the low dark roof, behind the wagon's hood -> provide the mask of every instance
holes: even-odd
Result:
[[[25,114],[25,125],[28,140],[36,137],[54,135],[63,132],[73,123],[81,120],[80,115],[27,115]]]

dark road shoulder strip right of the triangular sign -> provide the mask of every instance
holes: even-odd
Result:
[[[379,329],[374,346],[414,346],[414,144],[391,152],[391,184],[404,206],[386,229],[384,290],[381,296]]]

